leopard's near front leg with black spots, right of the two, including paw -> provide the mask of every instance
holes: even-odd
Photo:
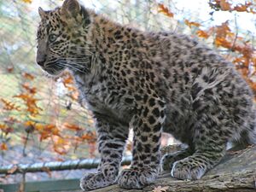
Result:
[[[154,182],[160,166],[160,136],[165,120],[165,102],[151,97],[137,106],[131,120],[134,131],[131,168],[119,174],[119,186],[125,189],[142,189]]]

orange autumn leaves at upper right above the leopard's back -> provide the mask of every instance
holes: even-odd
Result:
[[[253,1],[234,5],[228,0],[211,0],[209,6],[215,11],[237,11],[256,14],[255,2],[253,3]],[[160,13],[164,13],[171,18],[174,17],[173,13],[163,4],[159,4],[159,8]],[[204,30],[201,28],[203,25],[195,21],[184,20],[184,24],[189,26],[191,30],[194,30],[194,34],[191,32],[193,37],[195,35],[199,38],[209,39],[215,49],[225,50],[225,52],[222,52],[224,58],[234,63],[236,69],[247,80],[247,83],[251,85],[254,93],[256,93],[256,82],[255,80],[253,81],[256,67],[256,51],[253,38],[248,39],[243,36],[244,34],[239,34],[238,26],[231,29],[229,20],[226,20],[220,26],[207,26],[207,29]]]

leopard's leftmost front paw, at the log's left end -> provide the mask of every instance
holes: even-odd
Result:
[[[89,173],[80,179],[80,188],[84,191],[107,187],[115,183],[115,177],[106,177],[102,172]]]

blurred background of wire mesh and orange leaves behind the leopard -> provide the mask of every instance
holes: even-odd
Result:
[[[35,63],[38,7],[61,0],[0,0],[0,166],[95,158],[96,131],[69,73],[49,79]],[[254,0],[83,0],[86,8],[143,31],[185,33],[224,58],[256,90]],[[176,143],[164,135],[162,144]],[[131,141],[125,154],[130,154]],[[81,171],[26,174],[26,180]],[[20,182],[1,176],[0,183]]]

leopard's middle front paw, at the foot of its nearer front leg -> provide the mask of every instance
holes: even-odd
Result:
[[[118,183],[124,189],[143,189],[144,186],[154,182],[157,175],[157,170],[150,168],[126,169],[120,173]]]

